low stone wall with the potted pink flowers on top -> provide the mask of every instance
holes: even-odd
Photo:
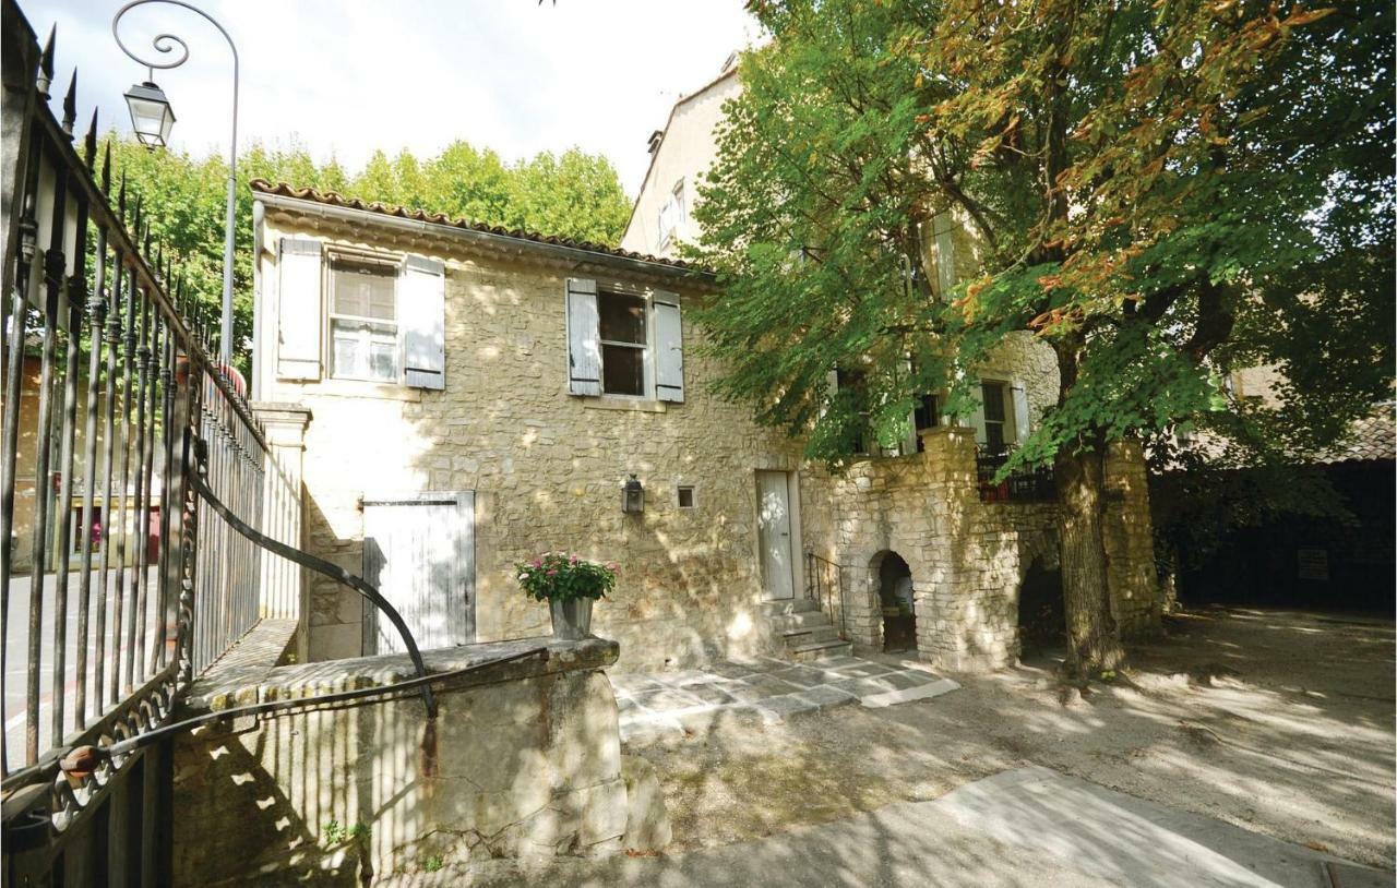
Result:
[[[447,679],[432,725],[408,693],[180,737],[175,884],[367,884],[476,857],[622,850],[626,779],[602,672],[615,642],[529,638],[425,656],[429,672],[446,673],[535,648],[546,659]],[[404,656],[282,666],[250,686],[214,670],[190,705],[225,709],[412,674]]]

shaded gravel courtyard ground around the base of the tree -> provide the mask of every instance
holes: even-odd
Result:
[[[672,853],[925,800],[1045,765],[1370,866],[1393,867],[1391,620],[1227,609],[1169,619],[1085,693],[1051,658],[887,709],[715,725],[630,744],[655,764]]]

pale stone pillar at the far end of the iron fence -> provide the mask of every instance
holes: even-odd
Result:
[[[272,539],[305,549],[302,536],[302,508],[305,503],[302,469],[306,450],[306,426],[310,410],[295,404],[253,404],[253,413],[261,422],[271,448],[271,459],[263,480],[261,531]],[[306,606],[305,568],[286,558],[265,554],[261,563],[261,616],[272,620],[300,620],[309,613]],[[306,637],[302,631],[296,656],[306,658]]]

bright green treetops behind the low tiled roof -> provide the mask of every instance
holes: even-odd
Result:
[[[105,142],[110,144],[112,169],[119,179],[113,183],[113,201],[124,176],[127,207],[133,208],[140,195],[142,218],[149,219],[155,240],[179,257],[186,292],[217,318],[222,300],[226,158],[152,152],[110,134]],[[237,159],[236,190],[233,353],[243,373],[249,370],[253,332],[253,194],[247,187],[253,179],[605,246],[620,242],[630,214],[630,201],[610,162],[576,148],[559,156],[539,154],[515,165],[464,141],[427,161],[418,161],[405,149],[390,161],[376,151],[359,175],[349,176],[332,156],[317,163],[302,148],[268,151],[253,144]]]

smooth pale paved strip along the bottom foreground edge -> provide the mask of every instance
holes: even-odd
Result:
[[[1393,874],[1232,824],[1021,768],[930,801],[685,854],[476,868],[472,885],[552,888],[1384,888]],[[462,884],[460,873],[384,885]]]

